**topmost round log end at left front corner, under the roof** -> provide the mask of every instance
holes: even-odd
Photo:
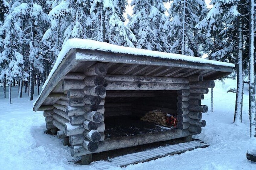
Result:
[[[98,76],[107,74],[107,65],[104,63],[96,63],[85,70],[86,76]]]

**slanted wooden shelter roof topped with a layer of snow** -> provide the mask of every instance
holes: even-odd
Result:
[[[52,93],[63,95],[61,80],[68,73],[84,73],[89,66],[97,62],[107,64],[108,75],[187,78],[202,74],[204,80],[226,76],[232,73],[235,66],[199,57],[121,47],[92,40],[70,39],[64,45],[43,85],[43,90],[34,103],[34,111],[43,105],[54,104],[56,101],[51,98]],[[83,79],[82,75],[78,79]]]

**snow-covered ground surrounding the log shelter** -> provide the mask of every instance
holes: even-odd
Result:
[[[249,137],[246,85],[243,123],[232,123],[235,93],[226,93],[226,88],[235,86],[235,83],[231,79],[225,80],[224,85],[219,81],[215,83],[213,113],[210,112],[210,93],[202,101],[209,107],[209,112],[203,113],[206,127],[194,138],[207,142],[210,147],[113,169],[256,169],[256,163],[246,159],[247,149],[256,149],[256,139]],[[69,147],[64,147],[61,139],[45,134],[43,112],[33,112],[33,101],[28,101],[27,93],[19,99],[17,88],[13,88],[12,94],[13,104],[8,104],[8,96],[3,99],[2,90],[0,92],[0,169],[94,169],[89,165],[76,165],[74,162],[78,158],[70,156]]]

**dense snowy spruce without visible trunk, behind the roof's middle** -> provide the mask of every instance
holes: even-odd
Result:
[[[162,0],[133,0],[133,16],[128,16],[127,26],[136,36],[136,48],[169,51],[166,32],[168,17]],[[167,26],[166,26],[167,25]]]

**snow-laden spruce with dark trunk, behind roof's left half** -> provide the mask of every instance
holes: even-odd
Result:
[[[134,47],[136,38],[133,32],[124,25],[123,11],[125,0],[93,0],[91,4],[92,30],[91,39],[115,45]],[[118,6],[120,5],[120,6]],[[121,17],[120,17],[121,16]]]

